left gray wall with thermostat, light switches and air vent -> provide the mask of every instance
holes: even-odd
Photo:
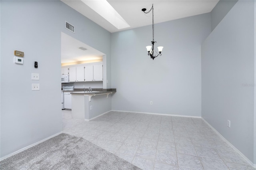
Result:
[[[62,131],[61,32],[106,54],[109,82],[111,63],[110,33],[63,2],[0,4],[2,158]],[[75,26],[75,34],[65,28],[65,20]],[[13,63],[14,50],[24,51],[24,65]],[[40,80],[32,81],[31,73],[39,73]],[[40,91],[32,91],[32,83],[40,83]]]

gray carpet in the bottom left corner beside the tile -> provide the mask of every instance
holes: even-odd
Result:
[[[2,170],[139,170],[84,138],[59,134],[0,162]]]

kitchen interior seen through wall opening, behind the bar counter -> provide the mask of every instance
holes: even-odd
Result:
[[[106,55],[61,32],[62,109],[72,110],[71,92],[102,91]]]

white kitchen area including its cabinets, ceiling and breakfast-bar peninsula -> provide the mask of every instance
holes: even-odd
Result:
[[[61,50],[61,109],[86,121],[110,111],[116,89],[103,89],[104,53],[64,33]]]

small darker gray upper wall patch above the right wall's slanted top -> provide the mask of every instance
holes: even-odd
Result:
[[[228,14],[237,1],[238,0],[220,0],[218,4],[216,4],[211,12],[212,30],[214,30],[226,14]]]

